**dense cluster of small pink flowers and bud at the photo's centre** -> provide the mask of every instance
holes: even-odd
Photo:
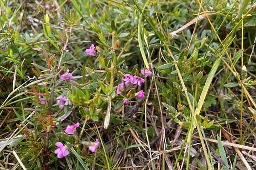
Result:
[[[141,69],[140,71],[143,75],[145,75],[145,77],[151,76],[151,74],[152,74],[152,72],[148,71],[148,70]],[[141,77],[138,77],[136,75],[131,76],[131,74],[125,74],[125,78],[123,79],[123,81],[125,82],[125,85],[129,85],[129,83],[131,83],[131,84],[134,84],[134,85],[137,84],[138,86],[141,86],[141,83],[144,83],[145,79],[143,79]],[[119,85],[117,85],[116,94],[121,94],[122,91],[123,91],[123,88],[124,88],[124,83],[123,82],[120,83]],[[145,97],[144,94],[145,94],[144,91],[141,90],[138,93],[136,93],[135,96],[139,97],[139,98],[143,98],[143,97]],[[128,99],[124,99],[123,103],[125,105],[127,105],[128,104]]]

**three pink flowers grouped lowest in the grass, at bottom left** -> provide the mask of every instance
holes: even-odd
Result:
[[[79,122],[77,122],[75,125],[68,125],[66,127],[66,130],[65,132],[69,135],[74,135],[74,134],[77,134],[76,133],[76,128],[79,127]],[[96,142],[84,142],[84,144],[87,144],[88,145],[88,148],[89,150],[91,150],[92,152],[95,152],[97,147],[99,146],[99,141],[98,139],[96,138]],[[54,153],[57,154],[57,157],[60,159],[60,158],[63,158],[64,156],[67,156],[68,154],[70,154],[69,150],[68,150],[68,146],[67,145],[64,145],[62,144],[61,142],[56,142],[55,145],[58,147],[58,149],[56,149],[54,151]]]

